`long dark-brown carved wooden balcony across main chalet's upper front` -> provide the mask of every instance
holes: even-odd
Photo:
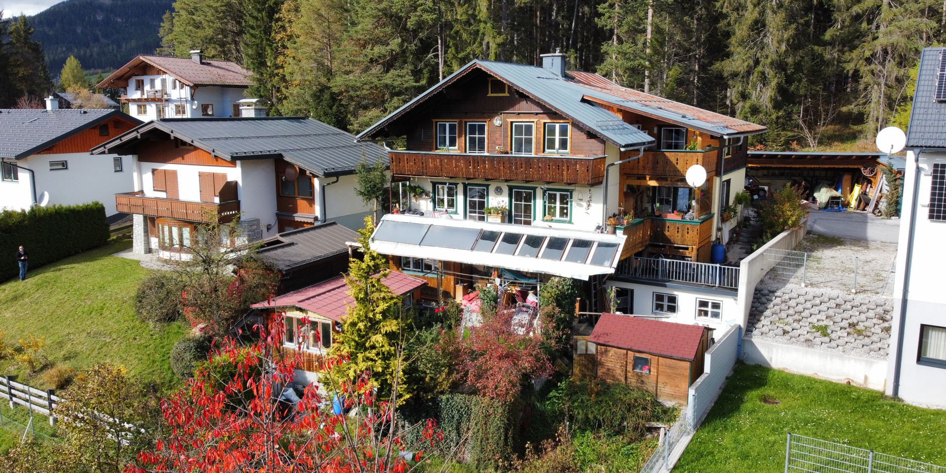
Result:
[[[391,173],[401,176],[504,179],[565,184],[601,184],[604,156],[589,158],[390,151]]]

